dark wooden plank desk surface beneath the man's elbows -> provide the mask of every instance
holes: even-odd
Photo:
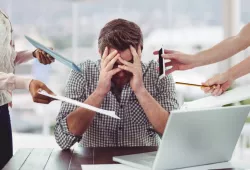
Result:
[[[110,164],[113,156],[156,151],[157,147],[20,149],[3,170],[81,170],[82,164]]]

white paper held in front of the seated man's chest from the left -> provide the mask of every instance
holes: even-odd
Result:
[[[113,117],[113,118],[116,118],[116,119],[120,119],[114,111],[109,111],[109,110],[103,110],[103,109],[100,109],[100,108],[96,108],[94,106],[91,106],[91,105],[88,105],[88,104],[84,104],[84,103],[81,103],[81,102],[78,102],[76,100],[72,100],[72,99],[69,99],[67,97],[63,97],[63,96],[54,96],[54,95],[50,95],[48,94],[46,91],[42,90],[40,92],[38,92],[44,96],[48,96],[48,97],[51,97],[53,99],[57,99],[57,100],[60,100],[60,101],[64,101],[64,102],[67,102],[67,103],[71,103],[71,104],[74,104],[76,106],[79,106],[79,107],[83,107],[83,108],[86,108],[86,109],[89,109],[89,110],[92,110],[92,111],[95,111],[95,112],[98,112],[98,113],[101,113],[101,114],[104,114],[104,115],[107,115],[107,116],[110,116],[110,117]]]

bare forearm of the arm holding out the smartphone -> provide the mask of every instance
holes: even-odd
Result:
[[[236,36],[223,40],[208,50],[197,54],[199,66],[225,60],[250,46],[250,24],[243,27]]]

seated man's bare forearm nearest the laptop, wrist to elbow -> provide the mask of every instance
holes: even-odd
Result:
[[[169,112],[161,107],[145,88],[135,94],[154,129],[163,134]]]

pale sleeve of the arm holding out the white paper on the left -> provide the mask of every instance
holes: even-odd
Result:
[[[0,72],[0,90],[27,89],[32,79]]]

